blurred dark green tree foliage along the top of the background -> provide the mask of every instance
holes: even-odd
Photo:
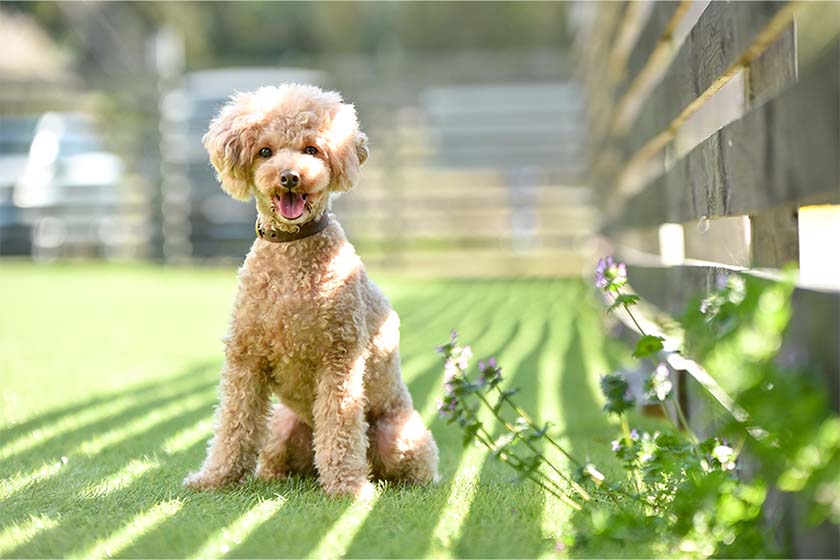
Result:
[[[568,44],[559,2],[7,2],[5,9],[30,13],[88,75],[142,64],[145,38],[161,25],[183,34],[193,69]]]

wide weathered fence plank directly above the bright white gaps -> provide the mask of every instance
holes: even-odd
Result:
[[[835,42],[795,86],[722,128],[630,199],[610,230],[840,202],[838,99]]]

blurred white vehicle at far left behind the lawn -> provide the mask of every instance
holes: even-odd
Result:
[[[33,226],[34,255],[108,254],[123,170],[119,156],[103,148],[90,117],[42,115],[13,196]]]

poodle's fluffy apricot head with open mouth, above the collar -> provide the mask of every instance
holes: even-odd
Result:
[[[238,200],[254,195],[264,223],[287,231],[352,189],[368,156],[353,105],[299,84],[234,95],[203,141],[222,188]]]

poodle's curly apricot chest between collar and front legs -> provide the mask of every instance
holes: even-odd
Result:
[[[321,252],[255,246],[241,274],[234,332],[265,359],[273,389],[298,414],[311,414],[327,356],[347,345],[365,304],[361,262],[346,241]]]

